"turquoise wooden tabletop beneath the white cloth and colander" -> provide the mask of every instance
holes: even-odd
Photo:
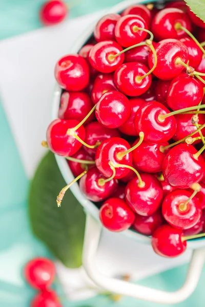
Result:
[[[22,34],[40,26],[38,9],[43,0],[0,0],[0,38]],[[70,17],[93,12],[118,3],[119,0],[81,0],[70,12]],[[1,307],[28,307],[34,291],[23,279],[23,267],[26,261],[36,255],[49,256],[44,245],[35,239],[30,231],[27,216],[27,193],[29,182],[26,178],[17,148],[15,146],[5,112],[0,102],[0,305]],[[174,291],[185,279],[187,266],[173,269],[140,281],[148,287]],[[194,294],[177,307],[204,306],[205,270]],[[60,297],[64,297],[59,284],[54,284]],[[156,307],[132,298],[122,298],[118,303],[107,297],[98,296],[84,302],[62,300],[67,307]],[[171,306],[171,305],[170,305]]]

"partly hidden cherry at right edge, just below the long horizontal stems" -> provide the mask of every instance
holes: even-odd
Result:
[[[187,137],[189,134],[193,133],[197,127],[192,124],[192,116],[193,114],[177,114],[175,115],[176,120],[176,132],[173,136],[174,141],[179,141],[185,137]],[[205,123],[205,115],[204,114],[198,114],[198,124],[204,124]],[[202,135],[205,133],[205,128],[201,129]],[[192,138],[199,137],[199,133],[197,132],[192,136]],[[194,144],[200,143],[201,140],[196,140]]]

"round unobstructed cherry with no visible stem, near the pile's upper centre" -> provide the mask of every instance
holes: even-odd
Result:
[[[96,104],[95,116],[97,121],[107,128],[117,128],[131,116],[131,103],[120,92],[106,92]]]

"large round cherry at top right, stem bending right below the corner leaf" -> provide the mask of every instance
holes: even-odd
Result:
[[[182,29],[176,30],[176,24],[191,31],[191,22],[187,14],[177,8],[167,8],[159,11],[153,18],[151,31],[157,40],[166,38],[182,38],[187,33]]]

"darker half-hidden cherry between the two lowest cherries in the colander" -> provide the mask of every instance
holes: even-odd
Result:
[[[161,210],[157,210],[149,216],[136,214],[132,227],[139,233],[152,235],[153,232],[163,224],[163,222],[164,219],[161,214]]]

